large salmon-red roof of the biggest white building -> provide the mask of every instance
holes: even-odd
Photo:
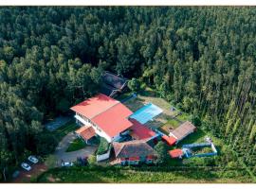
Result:
[[[81,113],[99,126],[107,135],[114,137],[133,126],[128,117],[133,113],[118,100],[99,94],[74,106],[71,110]]]

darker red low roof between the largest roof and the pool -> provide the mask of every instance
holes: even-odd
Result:
[[[131,136],[137,140],[147,139],[155,136],[155,132],[151,129],[148,129],[146,126],[140,124],[136,119],[130,119],[133,123],[131,127]]]

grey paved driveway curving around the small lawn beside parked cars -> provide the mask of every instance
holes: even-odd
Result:
[[[89,156],[96,151],[96,146],[85,146],[84,148],[77,151],[65,152],[70,143],[75,139],[76,135],[73,132],[69,132],[59,143],[55,151],[55,156],[57,157],[58,163],[61,163],[62,161],[75,162],[77,157]]]

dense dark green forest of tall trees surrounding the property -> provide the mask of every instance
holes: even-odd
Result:
[[[0,168],[44,154],[46,118],[108,70],[200,117],[255,174],[255,49],[255,8],[1,8]]]

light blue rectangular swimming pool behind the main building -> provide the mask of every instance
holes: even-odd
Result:
[[[130,118],[136,119],[140,124],[145,124],[153,118],[163,112],[155,104],[149,103],[143,106],[141,109],[138,109],[137,112],[134,112]]]

